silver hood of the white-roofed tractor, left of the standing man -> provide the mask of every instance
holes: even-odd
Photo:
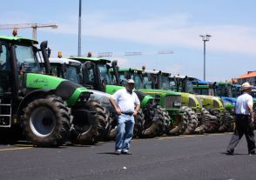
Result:
[[[99,90],[89,90],[89,91],[92,92],[91,94],[92,98],[100,102],[107,110],[110,110],[111,112],[115,112],[109,100],[109,98],[111,97],[110,94],[107,94]]]

